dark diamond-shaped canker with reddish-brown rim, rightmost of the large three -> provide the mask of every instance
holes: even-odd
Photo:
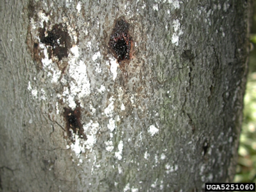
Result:
[[[116,21],[110,36],[109,46],[118,63],[130,58],[131,37],[128,32],[129,24],[126,21],[123,19]]]

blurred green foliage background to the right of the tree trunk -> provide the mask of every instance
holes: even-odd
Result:
[[[234,182],[256,182],[256,0],[250,31],[249,73],[243,99],[243,127],[240,136],[239,161]]]

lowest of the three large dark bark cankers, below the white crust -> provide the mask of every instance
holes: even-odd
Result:
[[[66,121],[66,131],[71,141],[74,141],[72,134],[78,134],[80,138],[87,139],[81,124],[81,107],[78,105],[74,110],[64,107],[64,117]]]

